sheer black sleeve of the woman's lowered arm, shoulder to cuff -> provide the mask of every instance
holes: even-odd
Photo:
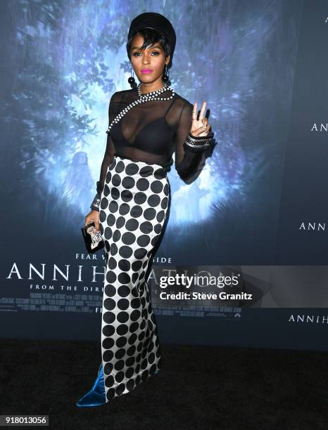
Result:
[[[116,93],[113,93],[113,96],[111,97],[111,101],[109,103],[109,108],[108,108],[109,124],[111,124],[111,122],[113,121],[113,119],[115,117],[115,112],[114,112],[115,94]],[[100,210],[99,206],[100,206],[100,200],[101,200],[101,193],[102,193],[103,187],[105,185],[106,172],[107,172],[108,166],[113,161],[114,155],[115,155],[115,146],[113,144],[111,134],[108,133],[107,134],[107,143],[106,143],[105,155],[103,156],[103,162],[101,163],[99,181],[96,183],[97,193],[94,196],[94,200],[92,201],[92,204],[90,205],[90,208],[94,211]]]

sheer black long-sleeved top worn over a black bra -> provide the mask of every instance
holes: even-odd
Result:
[[[171,95],[171,91],[164,91],[160,97]],[[118,113],[137,99],[137,89],[113,93],[108,109],[109,124]],[[170,171],[174,153],[175,169],[180,178],[184,181],[191,178],[202,159],[201,151],[184,145],[191,129],[192,110],[193,105],[175,93],[170,100],[150,100],[135,105],[118,123],[113,124],[107,135],[106,151],[101,164],[98,197],[100,198],[106,172],[114,155],[133,161],[160,164],[165,171]],[[93,202],[92,209],[96,209],[94,206],[98,207],[98,204]]]

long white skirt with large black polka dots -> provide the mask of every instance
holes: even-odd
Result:
[[[146,276],[169,207],[163,167],[114,157],[99,208],[106,252],[101,324],[106,402],[132,391],[161,367]]]

